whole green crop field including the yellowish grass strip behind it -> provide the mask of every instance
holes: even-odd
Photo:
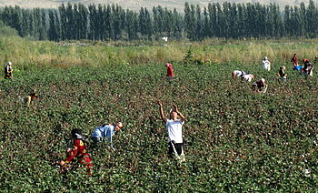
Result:
[[[63,46],[2,37],[2,64],[12,61],[15,72],[0,79],[1,191],[314,192],[317,76],[299,75],[289,61],[294,52],[312,60],[315,41]],[[262,56],[273,61],[269,73]],[[166,61],[172,81],[162,79]],[[280,66],[287,82],[275,75]],[[267,93],[232,79],[235,69],[264,77]],[[18,96],[32,89],[40,97],[23,107]],[[176,104],[186,118],[182,166],[166,155],[158,99],[165,113]],[[118,118],[117,150],[89,149],[93,177],[58,173],[73,128],[89,138]]]

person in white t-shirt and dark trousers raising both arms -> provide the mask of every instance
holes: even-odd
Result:
[[[168,132],[168,154],[170,157],[176,157],[179,163],[185,161],[184,149],[183,149],[183,125],[184,115],[182,115],[178,107],[174,105],[174,109],[170,111],[170,119],[166,119],[164,116],[163,104],[159,100],[159,112],[162,117]],[[179,119],[180,117],[180,119]]]

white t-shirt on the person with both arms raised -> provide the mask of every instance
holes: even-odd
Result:
[[[165,126],[168,131],[168,142],[175,141],[175,143],[183,143],[183,125],[184,121],[180,119],[174,121],[173,119],[167,119]]]

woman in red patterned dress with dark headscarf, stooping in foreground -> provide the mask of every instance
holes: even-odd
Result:
[[[67,148],[66,150],[66,158],[60,162],[62,167],[67,166],[68,164],[72,164],[75,162],[75,167],[72,168],[87,168],[87,173],[92,175],[92,159],[87,153],[87,148],[85,145],[84,136],[82,135],[82,131],[80,129],[73,129],[71,131],[71,136],[74,140],[74,147]],[[72,164],[73,165],[73,164]]]

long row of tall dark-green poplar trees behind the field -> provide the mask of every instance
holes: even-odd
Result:
[[[152,11],[124,10],[120,5],[60,5],[58,9],[5,6],[0,19],[19,36],[36,40],[154,40],[162,36],[188,38],[316,37],[318,7],[309,5],[184,4],[184,13],[162,6]]]

